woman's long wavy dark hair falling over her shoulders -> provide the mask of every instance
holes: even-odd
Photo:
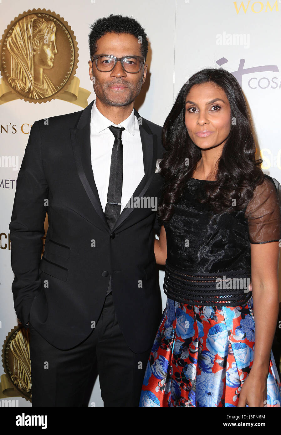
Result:
[[[201,149],[191,140],[185,126],[185,100],[194,84],[206,82],[213,82],[224,90],[231,107],[232,122],[230,134],[217,161],[216,181],[206,184],[204,195],[201,194],[198,201],[209,204],[215,212],[241,210],[253,197],[254,188],[264,180],[260,167],[262,160],[255,160],[251,117],[238,81],[224,69],[201,70],[181,88],[164,122],[162,141],[165,152],[160,162],[164,188],[157,211],[159,220],[163,222],[171,219],[174,204],[180,200],[187,179],[192,177],[201,159]],[[233,199],[236,200],[236,207],[233,207]]]

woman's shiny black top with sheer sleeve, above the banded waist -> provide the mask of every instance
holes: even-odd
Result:
[[[281,239],[278,181],[265,175],[241,211],[214,213],[197,201],[198,189],[213,181],[190,178],[174,214],[164,223],[167,264],[194,273],[247,270],[251,272],[251,243]]]

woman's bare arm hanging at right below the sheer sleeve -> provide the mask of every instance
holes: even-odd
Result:
[[[251,244],[251,277],[255,321],[254,361],[241,388],[238,406],[264,406],[266,379],[278,319],[279,244]]]

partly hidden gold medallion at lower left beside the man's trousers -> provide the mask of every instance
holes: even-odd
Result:
[[[30,337],[23,326],[15,326],[3,344],[0,397],[21,396],[31,400]]]

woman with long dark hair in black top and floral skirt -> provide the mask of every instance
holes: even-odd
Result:
[[[280,406],[278,181],[261,171],[235,77],[205,69],[163,127],[163,313],[140,406]],[[251,282],[251,284],[250,284]]]

